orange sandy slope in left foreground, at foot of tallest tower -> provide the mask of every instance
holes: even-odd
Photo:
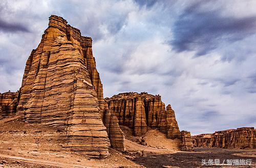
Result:
[[[0,167],[141,167],[110,149],[106,159],[89,159],[61,147],[60,132],[18,118],[0,122]]]

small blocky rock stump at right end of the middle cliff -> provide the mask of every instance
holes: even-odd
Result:
[[[180,142],[181,151],[191,152],[193,151],[193,139],[190,132],[181,131],[181,142]]]

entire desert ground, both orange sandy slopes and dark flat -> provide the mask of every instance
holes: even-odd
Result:
[[[195,152],[180,152],[176,141],[168,141],[154,129],[145,134],[146,146],[142,146],[140,137],[132,136],[127,127],[121,127],[126,152],[110,148],[108,158],[90,159],[61,148],[53,136],[58,132],[49,127],[26,124],[15,117],[1,121],[0,126],[0,167],[205,167],[202,159],[251,159],[252,165],[244,167],[253,167],[256,162],[255,150],[196,148]]]

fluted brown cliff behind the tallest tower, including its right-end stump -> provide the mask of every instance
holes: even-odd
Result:
[[[144,135],[148,127],[157,128],[165,133],[167,138],[180,138],[182,150],[193,150],[193,143],[190,144],[189,141],[191,139],[187,140],[190,133],[186,131],[189,135],[184,133],[184,137],[181,137],[174,110],[170,105],[165,110],[160,95],[129,92],[119,93],[105,100],[108,102],[110,112],[117,116],[119,125],[131,128],[135,136]]]

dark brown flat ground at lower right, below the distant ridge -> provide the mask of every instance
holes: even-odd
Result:
[[[255,167],[255,150],[238,149],[218,149],[218,148],[194,148],[195,152],[177,152],[173,154],[148,155],[147,157],[137,157],[134,161],[148,168],[153,167]],[[219,159],[220,165],[202,165],[202,160],[206,163],[209,159]],[[251,165],[228,165],[227,160],[251,159]],[[224,161],[224,164],[221,165]]]

